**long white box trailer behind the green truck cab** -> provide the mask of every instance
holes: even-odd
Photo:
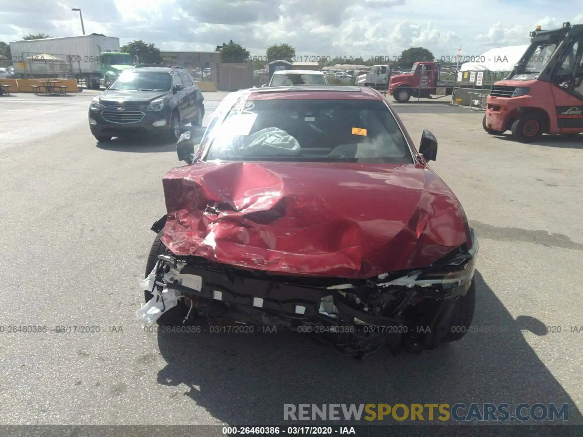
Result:
[[[76,37],[44,38],[10,43],[10,54],[16,75],[41,77],[47,74],[72,75],[94,83],[101,77],[99,54],[120,51],[120,38],[92,33]],[[28,62],[27,58],[48,54],[63,63]]]

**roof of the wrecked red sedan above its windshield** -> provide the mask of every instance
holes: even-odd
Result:
[[[384,100],[370,87],[335,85],[292,85],[245,90],[247,100]]]

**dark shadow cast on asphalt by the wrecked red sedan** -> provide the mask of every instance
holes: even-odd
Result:
[[[567,403],[568,424],[583,423],[574,401],[523,337],[522,330],[546,335],[546,323],[528,316],[515,320],[479,272],[475,280],[473,329],[496,326],[503,333],[472,332],[434,351],[395,358],[381,350],[356,361],[332,346],[319,346],[297,333],[159,332],[160,353],[168,364],[159,371],[157,380],[162,385],[177,386],[171,397],[188,396],[230,425],[314,424],[284,422],[283,404],[452,406],[458,402],[508,403],[512,407],[540,402],[554,403],[558,408]],[[182,385],[188,387],[184,392]],[[427,419],[425,424],[442,423]],[[352,425],[356,423],[383,424],[361,420]],[[397,422],[389,418],[384,424]]]

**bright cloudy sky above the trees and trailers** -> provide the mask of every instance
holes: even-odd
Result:
[[[0,41],[86,33],[214,50],[233,39],[252,55],[288,43],[297,55],[395,56],[422,46],[437,58],[528,43],[528,32],[583,23],[580,0],[0,0]]]

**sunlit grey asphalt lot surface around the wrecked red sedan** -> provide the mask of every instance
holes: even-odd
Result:
[[[583,138],[524,145],[486,135],[483,112],[395,104],[415,142],[436,135],[432,167],[476,229],[482,331],[359,362],[300,334],[143,331],[175,145],[96,143],[96,94],[0,98],[0,325],[48,327],[0,333],[0,424],[274,425],[285,403],[433,402],[567,403],[583,424]],[[205,125],[223,96],[205,93]]]

